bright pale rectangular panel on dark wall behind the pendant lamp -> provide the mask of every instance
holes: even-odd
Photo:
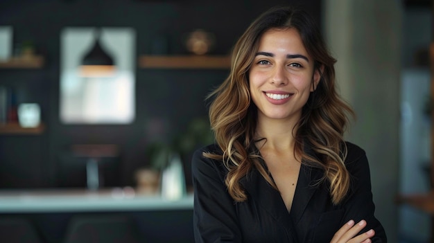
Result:
[[[134,120],[135,31],[132,28],[64,28],[60,43],[60,120],[64,124],[128,124]],[[83,76],[80,65],[94,46],[114,60],[109,76]]]

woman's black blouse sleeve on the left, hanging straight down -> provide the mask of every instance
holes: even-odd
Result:
[[[242,242],[234,201],[224,183],[223,163],[207,159],[197,150],[191,167],[196,242]]]

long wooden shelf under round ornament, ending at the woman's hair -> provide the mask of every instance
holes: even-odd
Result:
[[[142,55],[139,67],[144,69],[229,69],[231,58],[226,55]]]

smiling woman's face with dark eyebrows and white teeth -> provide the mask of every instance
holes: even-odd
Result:
[[[295,28],[272,28],[263,33],[249,71],[250,94],[259,119],[297,121],[309,94],[320,80],[314,60]]]

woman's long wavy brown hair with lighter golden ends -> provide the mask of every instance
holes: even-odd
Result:
[[[270,28],[297,29],[306,51],[315,60],[314,69],[320,72],[318,87],[309,96],[294,130],[295,154],[302,155],[302,163],[324,170],[322,181],[329,183],[332,202],[338,204],[349,190],[343,134],[348,115],[354,116],[354,111],[336,92],[333,66],[336,60],[327,51],[315,21],[304,10],[271,8],[254,20],[238,39],[232,49],[228,78],[207,97],[212,100],[209,106],[211,129],[223,154],[205,152],[204,156],[223,161],[229,170],[225,183],[234,201],[247,199],[240,179],[253,168],[277,189],[254,145],[257,107],[251,101],[248,81],[259,39]],[[306,153],[306,147],[313,153]]]

